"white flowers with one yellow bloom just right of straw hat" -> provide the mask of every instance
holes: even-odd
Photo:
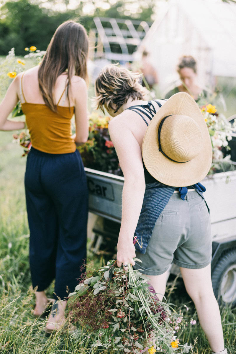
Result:
[[[230,162],[230,155],[222,152],[224,147],[226,151],[230,150],[228,144],[232,139],[232,133],[236,129],[236,119],[234,124],[231,125],[223,114],[218,114],[217,109],[212,104],[203,105],[200,107],[203,117],[206,121],[208,131],[212,142],[212,166],[209,174],[220,170],[222,163]]]

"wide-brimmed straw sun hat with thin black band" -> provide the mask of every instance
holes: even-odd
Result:
[[[212,162],[211,138],[203,115],[186,92],[170,97],[146,130],[143,161],[158,181],[186,187],[206,177]]]

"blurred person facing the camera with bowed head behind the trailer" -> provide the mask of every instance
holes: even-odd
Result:
[[[197,63],[194,57],[191,55],[183,55],[180,57],[177,65],[177,72],[182,83],[167,92],[165,95],[166,99],[178,92],[189,93],[196,102],[198,102],[200,98],[208,98],[209,93],[207,90],[199,86],[197,82]]]

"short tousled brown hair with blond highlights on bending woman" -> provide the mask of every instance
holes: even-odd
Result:
[[[104,108],[114,110],[114,113],[128,101],[129,98],[143,99],[147,90],[139,84],[140,74],[117,65],[105,66],[95,81],[96,108],[104,113]]]

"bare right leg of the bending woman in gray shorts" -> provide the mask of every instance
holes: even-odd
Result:
[[[180,267],[180,271],[212,351],[221,352],[224,350],[224,338],[220,310],[212,289],[211,264],[201,269]]]

